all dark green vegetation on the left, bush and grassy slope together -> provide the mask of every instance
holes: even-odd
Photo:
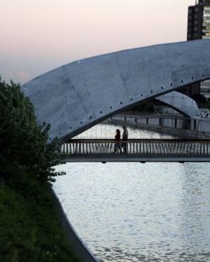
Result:
[[[0,261],[76,262],[50,190],[60,142],[48,142],[20,85],[0,78]]]

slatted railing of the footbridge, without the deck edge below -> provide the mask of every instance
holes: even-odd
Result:
[[[61,153],[68,157],[210,157],[210,140],[71,140],[62,145]]]

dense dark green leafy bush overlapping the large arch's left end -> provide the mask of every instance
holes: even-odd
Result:
[[[38,125],[29,99],[20,85],[0,78],[0,170],[17,167],[39,180],[54,181],[52,166],[59,164],[60,142],[48,143],[50,125]]]

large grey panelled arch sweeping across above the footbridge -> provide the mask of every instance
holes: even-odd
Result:
[[[141,101],[210,78],[210,40],[154,45],[76,61],[23,91],[50,137],[66,140]]]

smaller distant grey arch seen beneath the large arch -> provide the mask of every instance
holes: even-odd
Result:
[[[186,115],[186,117],[199,117],[200,115],[195,100],[179,92],[172,91],[155,99]]]

